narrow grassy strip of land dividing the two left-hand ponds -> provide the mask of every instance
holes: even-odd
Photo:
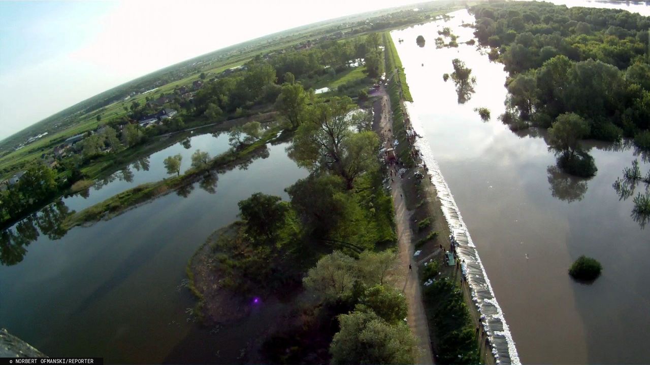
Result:
[[[163,179],[155,183],[140,184],[135,188],[131,188],[116,194],[101,203],[92,205],[81,212],[77,212],[72,216],[66,218],[63,227],[70,229],[83,223],[99,221],[108,216],[116,216],[128,210],[135,205],[145,203],[155,197],[168,194],[181,186],[196,182],[207,171],[216,168],[226,168],[229,165],[239,164],[253,157],[255,152],[260,151],[266,144],[276,138],[278,129],[271,129],[266,132],[265,136],[257,142],[248,145],[239,151],[227,151],[222,155],[218,155],[210,160],[209,163],[201,168],[190,168],[190,170],[183,173],[183,175]]]

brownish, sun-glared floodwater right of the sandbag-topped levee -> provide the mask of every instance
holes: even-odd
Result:
[[[573,3],[573,2],[572,2]],[[577,1],[574,3],[577,5]],[[621,5],[625,8],[625,4]],[[638,159],[629,147],[586,142],[598,173],[573,179],[554,170],[545,131],[511,132],[504,111],[506,72],[476,46],[435,49],[442,27],[473,38],[466,10],[448,22],[391,32],[414,103],[411,119],[462,212],[523,363],[647,363],[650,347],[650,234],[630,216],[612,183]],[[415,38],[424,36],[425,47]],[[448,39],[446,40],[448,42]],[[474,93],[458,103],[452,59],[476,77]],[[423,65],[422,65],[423,64]],[[474,111],[491,110],[484,122]],[[603,264],[593,284],[567,274],[580,255]]]

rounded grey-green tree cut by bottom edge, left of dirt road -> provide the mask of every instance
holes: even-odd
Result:
[[[405,323],[389,325],[371,310],[341,314],[339,323],[332,364],[413,364],[415,338]]]

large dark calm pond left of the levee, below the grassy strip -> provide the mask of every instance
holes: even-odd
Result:
[[[201,138],[207,138],[205,145]],[[188,151],[216,153],[219,147],[209,147],[213,143],[218,140],[209,135],[193,138]],[[268,153],[246,170],[194,183],[185,197],[164,195],[112,220],[76,227],[59,240],[40,234],[24,246],[21,262],[0,266],[0,326],[50,357],[104,357],[107,363],[246,361],[252,334],[266,331],[287,306],[263,300],[246,320],[204,329],[192,313],[196,300],[184,286],[185,267],[210,233],[237,219],[240,200],[255,192],[288,199],[284,188],[307,171],[287,157],[286,145],[268,145]],[[158,155],[175,153],[183,153],[183,147]],[[161,158],[149,158],[148,173],[165,175]]]

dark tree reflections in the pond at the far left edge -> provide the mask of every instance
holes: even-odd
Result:
[[[72,213],[73,211],[59,199],[37,214],[32,214],[19,221],[14,227],[2,231],[0,233],[0,264],[12,266],[21,262],[27,253],[26,247],[34,242],[40,233],[45,234],[50,240],[59,240],[65,236],[68,230],[64,229],[61,224]]]

